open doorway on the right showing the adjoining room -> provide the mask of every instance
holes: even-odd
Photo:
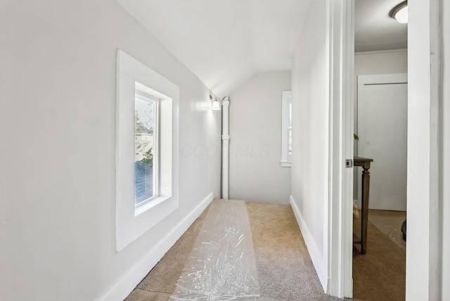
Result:
[[[366,255],[354,250],[352,260],[356,299],[405,299],[401,224],[406,219],[408,25],[388,16],[398,3],[355,1],[354,151],[373,159]],[[361,172],[354,170],[354,200],[360,210]],[[354,227],[360,223],[355,219]]]

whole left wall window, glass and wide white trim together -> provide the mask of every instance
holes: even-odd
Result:
[[[117,51],[117,251],[179,206],[178,103],[178,86]]]

